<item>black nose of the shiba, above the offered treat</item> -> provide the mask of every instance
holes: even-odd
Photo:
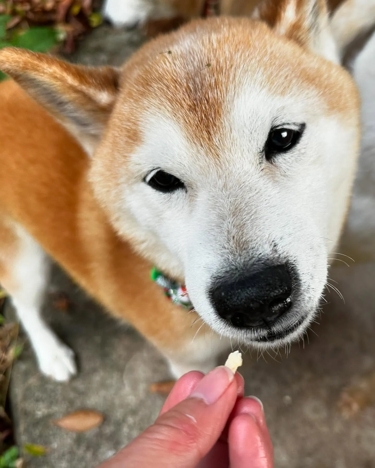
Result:
[[[238,328],[270,328],[292,307],[292,280],[285,265],[227,273],[209,293],[220,317]]]

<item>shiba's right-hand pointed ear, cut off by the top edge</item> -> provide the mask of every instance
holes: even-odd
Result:
[[[339,61],[325,0],[261,0],[252,16],[302,47]]]

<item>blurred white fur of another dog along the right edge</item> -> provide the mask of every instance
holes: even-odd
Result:
[[[343,236],[344,251],[357,260],[375,259],[375,32],[353,63],[361,92],[361,156]]]

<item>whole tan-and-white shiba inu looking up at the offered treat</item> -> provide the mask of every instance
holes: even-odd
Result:
[[[191,22],[121,69],[0,51],[0,283],[43,373],[76,373],[40,315],[48,256],[176,377],[308,328],[360,145],[331,29],[323,0],[280,0]]]

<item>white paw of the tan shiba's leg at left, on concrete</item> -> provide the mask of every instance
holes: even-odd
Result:
[[[41,372],[58,382],[67,382],[77,373],[73,351],[53,339],[45,345],[42,353],[38,354],[39,368]]]

